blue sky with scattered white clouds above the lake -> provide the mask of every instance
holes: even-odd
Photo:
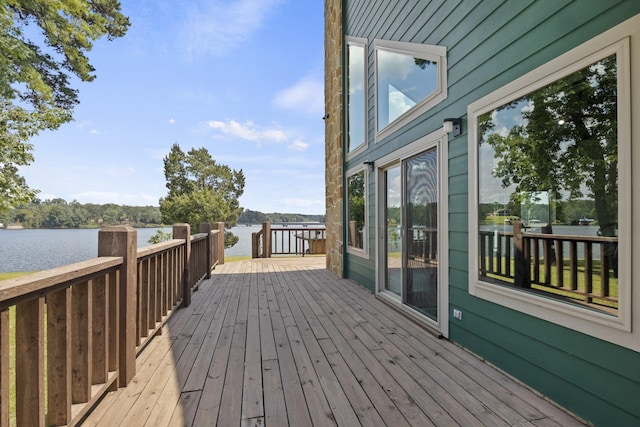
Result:
[[[324,213],[323,2],[121,3],[131,27],[90,52],[75,121],[31,141],[38,197],[157,206],[177,142],[242,169],[244,208]]]

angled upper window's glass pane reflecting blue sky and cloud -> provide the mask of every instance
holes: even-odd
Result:
[[[377,51],[378,130],[438,89],[438,63],[396,52]]]

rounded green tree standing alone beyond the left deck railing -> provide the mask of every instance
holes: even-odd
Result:
[[[233,227],[242,213],[238,198],[244,192],[242,170],[218,164],[205,148],[184,153],[178,144],[164,158],[167,197],[160,199],[165,224],[187,222],[197,231],[202,222],[224,222]],[[238,242],[231,232],[225,235],[225,247]]]

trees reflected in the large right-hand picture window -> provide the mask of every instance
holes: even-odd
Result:
[[[491,175],[512,202],[538,191],[591,198],[599,234],[617,235],[616,90],[612,55],[479,117],[479,144],[494,151]]]

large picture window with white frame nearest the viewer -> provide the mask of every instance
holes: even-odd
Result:
[[[629,345],[629,42],[588,46],[469,106],[469,291]]]

